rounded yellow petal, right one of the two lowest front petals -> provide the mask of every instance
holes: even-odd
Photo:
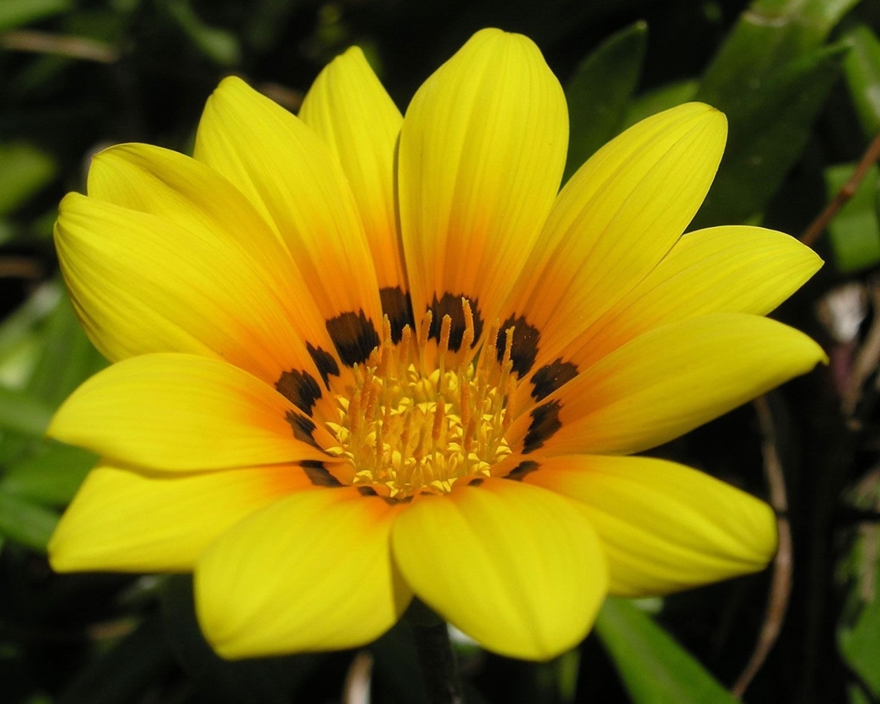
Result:
[[[392,538],[415,594],[501,655],[559,655],[605,598],[605,557],[583,512],[516,481],[416,498]]]

